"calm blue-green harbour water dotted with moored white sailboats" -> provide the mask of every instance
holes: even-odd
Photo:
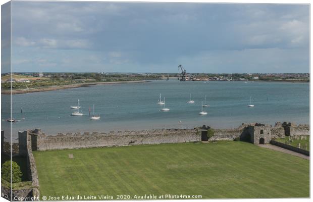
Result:
[[[161,107],[156,105],[160,93],[166,97],[169,112],[160,112]],[[189,93],[195,104],[187,104]],[[204,108],[208,114],[200,116],[205,94],[211,108]],[[254,108],[247,107],[250,95]],[[86,116],[69,116],[70,106],[77,105],[77,98]],[[5,102],[6,97],[3,100]],[[91,107],[92,113],[92,104],[96,114],[100,114],[100,120],[89,120],[88,108]],[[2,119],[7,117],[9,113],[3,109]],[[13,123],[14,136],[19,130],[34,128],[57,134],[200,125],[231,128],[244,122],[308,124],[309,83],[162,80],[17,94],[13,95],[13,117],[21,120]],[[2,121],[2,124],[9,123]]]

